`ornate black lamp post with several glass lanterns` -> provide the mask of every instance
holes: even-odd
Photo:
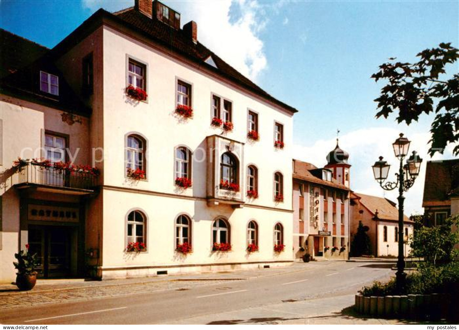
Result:
[[[403,159],[408,154],[409,143],[410,141],[406,137],[403,137],[403,134],[400,134],[400,137],[392,143],[395,157],[400,161],[398,173],[395,174],[395,176],[397,176],[397,181],[383,183],[387,179],[391,165],[387,164],[385,160],[382,160],[382,157],[372,166],[375,180],[379,182],[379,185],[384,190],[393,190],[398,187],[398,259],[396,283],[399,292],[403,290],[406,281],[406,273],[404,271],[405,260],[403,258],[403,201],[405,200],[403,192],[408,191],[408,189],[413,186],[414,180],[416,180],[419,175],[422,162],[418,154],[413,151],[413,154],[406,161],[406,164],[403,165]]]

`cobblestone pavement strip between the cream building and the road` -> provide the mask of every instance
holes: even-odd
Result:
[[[95,298],[115,297],[150,293],[163,290],[189,290],[196,286],[208,286],[221,283],[228,283],[237,280],[189,280],[189,281],[150,281],[126,284],[114,284],[104,286],[87,286],[73,289],[62,289],[56,291],[38,291],[25,294],[8,294],[0,296],[0,309],[21,306],[39,305],[45,303],[62,303],[78,300],[89,300]]]

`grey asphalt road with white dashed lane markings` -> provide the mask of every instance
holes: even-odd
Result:
[[[392,263],[393,264],[393,263]],[[277,310],[304,317],[305,311],[289,303],[354,294],[364,284],[394,274],[391,263],[322,262],[319,267],[248,281],[179,288],[162,292],[99,298],[87,301],[1,310],[2,324],[177,324],[211,323],[217,314],[263,307],[275,316]],[[339,306],[336,299],[336,310]],[[331,300],[330,304],[333,304]],[[341,302],[342,304],[342,302]],[[281,307],[279,307],[281,306]],[[320,312],[320,311],[315,311]],[[198,321],[196,321],[198,320]]]

